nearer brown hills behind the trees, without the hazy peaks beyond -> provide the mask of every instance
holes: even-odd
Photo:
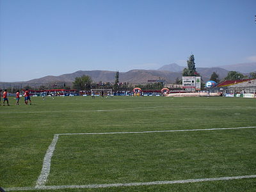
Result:
[[[227,75],[227,70],[221,68],[197,68],[204,81],[208,81],[212,72],[217,72],[220,78]],[[0,87],[5,84],[45,84],[52,82],[67,82],[71,83],[76,77],[83,75],[92,77],[93,81],[99,82],[115,82],[115,71],[108,70],[79,70],[71,74],[63,74],[61,76],[45,76],[38,79],[32,79],[23,82],[4,83],[0,82]],[[129,83],[147,83],[148,80],[164,79],[166,83],[175,83],[177,77],[182,77],[182,72],[171,72],[168,70],[129,70],[128,72],[119,72],[120,82]]]

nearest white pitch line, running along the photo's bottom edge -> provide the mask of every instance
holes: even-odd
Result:
[[[204,179],[186,179],[186,180],[159,180],[152,182],[131,182],[131,183],[115,183],[115,184],[90,184],[90,185],[72,185],[72,186],[36,186],[24,188],[6,188],[6,191],[31,191],[31,190],[46,190],[46,189],[85,189],[85,188],[111,188],[111,187],[127,187],[127,186],[150,186],[150,185],[163,185],[163,184],[184,184],[193,182],[207,182],[218,180],[234,180],[234,179],[250,179],[256,178],[256,175],[243,175],[235,177],[216,177]]]

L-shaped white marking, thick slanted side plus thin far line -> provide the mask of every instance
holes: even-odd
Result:
[[[55,150],[59,136],[61,135],[92,135],[92,134],[138,134],[138,133],[154,133],[154,132],[183,132],[183,131],[214,131],[214,130],[228,130],[228,129],[252,129],[256,127],[232,127],[232,128],[214,128],[214,129],[181,129],[181,130],[166,130],[166,131],[132,131],[132,132],[87,132],[87,133],[60,133],[54,134],[51,145],[49,145],[42,166],[42,171],[36,181],[36,188],[45,185],[47,177],[51,170],[51,158]]]

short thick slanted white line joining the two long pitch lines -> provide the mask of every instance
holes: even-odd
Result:
[[[54,134],[52,143],[51,143],[51,145],[49,145],[49,148],[47,149],[46,154],[44,156],[44,163],[43,163],[42,171],[36,181],[36,186],[44,185],[47,180],[47,177],[51,170],[51,158],[52,158],[53,152],[55,150],[55,146],[58,141],[58,138],[59,138],[59,134]]]

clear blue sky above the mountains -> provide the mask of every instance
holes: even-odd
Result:
[[[0,0],[0,81],[256,61],[255,0]]]

